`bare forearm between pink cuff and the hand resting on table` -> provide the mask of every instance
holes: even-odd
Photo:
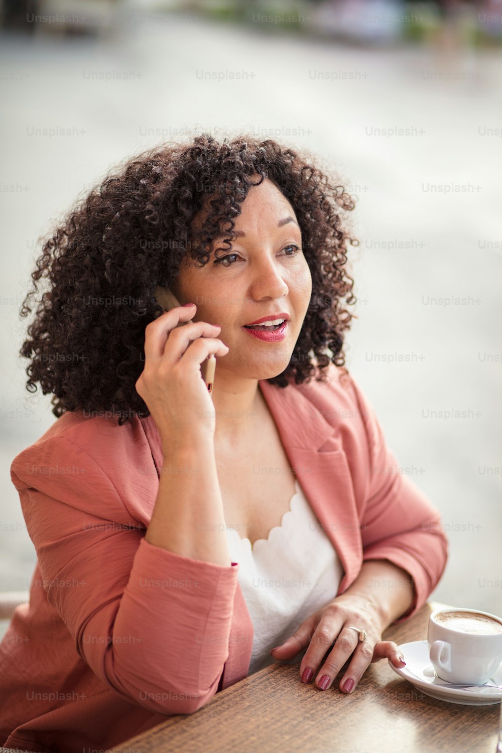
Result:
[[[367,559],[361,572],[340,596],[361,596],[371,602],[379,614],[382,630],[391,625],[411,607],[415,598],[412,578],[406,570],[393,565],[388,559]]]

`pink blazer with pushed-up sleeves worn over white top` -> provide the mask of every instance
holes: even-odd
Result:
[[[446,565],[440,515],[397,472],[351,378],[281,389],[260,380],[284,450],[342,562],[409,573],[414,614]],[[0,743],[108,748],[190,714],[248,673],[253,626],[239,563],[219,566],[145,541],[163,465],[151,416],[118,426],[65,413],[19,453],[11,478],[38,563],[29,604],[0,643]],[[333,598],[338,594],[333,593]]]

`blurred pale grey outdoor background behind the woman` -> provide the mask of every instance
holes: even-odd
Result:
[[[11,462],[56,420],[18,355],[41,237],[138,151],[250,133],[308,150],[357,197],[348,368],[395,472],[443,514],[433,598],[502,615],[502,2],[3,0],[0,15],[0,590],[28,590],[35,566]]]

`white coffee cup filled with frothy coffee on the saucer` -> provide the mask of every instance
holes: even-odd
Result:
[[[455,684],[485,684],[502,662],[502,618],[479,609],[437,609],[427,628],[436,674]]]

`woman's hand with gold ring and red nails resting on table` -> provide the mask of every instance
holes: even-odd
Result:
[[[366,630],[367,639],[360,642],[357,631],[349,626]],[[333,642],[335,645],[322,662]],[[348,593],[342,593],[312,614],[293,636],[272,648],[270,654],[274,659],[288,661],[306,647],[300,677],[309,682],[317,672],[315,685],[323,691],[330,687],[350,656],[351,662],[339,682],[340,690],[345,693],[354,690],[372,662],[388,658],[394,666],[405,666],[397,644],[382,641],[382,620],[376,606],[368,599]]]

